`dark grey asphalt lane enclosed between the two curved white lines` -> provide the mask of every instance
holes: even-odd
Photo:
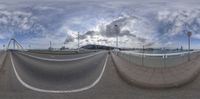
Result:
[[[73,90],[95,82],[101,74],[106,52],[75,61],[45,61],[12,53],[13,64],[19,77],[40,89]]]

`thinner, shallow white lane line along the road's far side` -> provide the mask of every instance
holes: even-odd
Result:
[[[95,53],[95,54],[91,54],[91,55],[88,55],[88,56],[83,56],[83,57],[73,58],[73,59],[49,59],[49,58],[44,58],[44,57],[38,57],[38,56],[33,56],[33,55],[25,54],[25,53],[22,53],[22,52],[19,52],[19,53],[21,53],[23,55],[26,55],[26,56],[29,56],[29,57],[32,57],[32,58],[35,58],[35,59],[40,59],[40,60],[45,60],[45,61],[58,61],[58,62],[62,62],[62,61],[75,61],[75,60],[81,60],[81,59],[89,58],[89,57],[95,56],[97,54],[103,53],[103,51]]]

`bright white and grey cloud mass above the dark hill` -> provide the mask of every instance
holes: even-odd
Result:
[[[146,22],[145,20],[139,19],[136,16],[124,16],[117,18],[110,23],[106,24],[97,24],[97,28],[94,30],[87,31],[80,35],[80,40],[84,44],[105,44],[115,46],[116,36],[118,35],[120,39],[120,43],[126,43],[126,47],[130,46],[131,42],[137,42],[136,45],[140,45],[139,43],[143,43],[143,45],[151,46],[153,45],[152,39],[154,38],[151,33],[146,34],[142,32],[140,29],[148,28],[148,25],[143,25]],[[116,26],[117,25],[117,26]],[[140,30],[140,31],[136,31]],[[145,29],[143,29],[145,30]],[[149,36],[148,36],[149,35]],[[151,35],[151,36],[150,36]],[[68,36],[66,41],[67,43],[73,42],[75,38],[71,38]]]

